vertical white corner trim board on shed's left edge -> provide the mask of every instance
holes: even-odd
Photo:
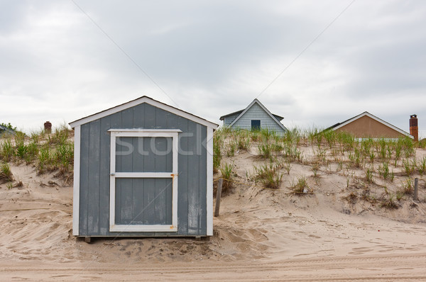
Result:
[[[80,234],[80,144],[81,126],[74,128],[74,185],[72,187],[72,235]]]

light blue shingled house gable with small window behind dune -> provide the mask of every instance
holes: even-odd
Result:
[[[247,108],[227,115],[222,115],[220,120],[224,121],[224,126],[234,129],[260,130],[268,128],[279,134],[287,131],[287,128],[280,123],[284,118],[274,115],[263,104],[254,99]]]

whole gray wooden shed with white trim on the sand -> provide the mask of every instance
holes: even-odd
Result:
[[[217,124],[143,96],[70,125],[73,235],[213,235]]]

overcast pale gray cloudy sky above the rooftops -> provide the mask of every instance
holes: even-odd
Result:
[[[143,95],[214,123],[257,97],[288,128],[416,113],[426,137],[426,1],[0,1],[0,122]]]

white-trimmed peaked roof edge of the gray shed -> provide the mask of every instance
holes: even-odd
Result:
[[[168,104],[161,103],[160,101],[154,100],[153,98],[150,98],[148,96],[142,96],[140,98],[129,101],[127,103],[123,103],[119,106],[109,108],[109,109],[101,111],[99,113],[94,113],[93,115],[88,115],[85,118],[80,118],[79,120],[75,120],[72,123],[70,123],[70,126],[71,126],[71,128],[75,128],[77,125],[82,125],[84,123],[89,123],[89,122],[91,122],[93,120],[97,120],[99,118],[104,118],[107,115],[112,115],[113,113],[117,113],[119,111],[126,110],[127,108],[137,106],[141,103],[148,103],[151,106],[154,106],[156,108],[160,108],[160,109],[162,109],[164,111],[168,111],[170,113],[174,113],[175,115],[179,115],[182,118],[187,118],[188,120],[192,120],[195,123],[200,123],[201,125],[205,125],[208,128],[216,129],[219,126],[216,123],[210,122],[209,120],[205,120],[204,118],[200,118],[197,115],[192,115],[192,113],[187,113],[185,111],[182,111],[182,110],[175,108],[173,106],[170,106]]]

